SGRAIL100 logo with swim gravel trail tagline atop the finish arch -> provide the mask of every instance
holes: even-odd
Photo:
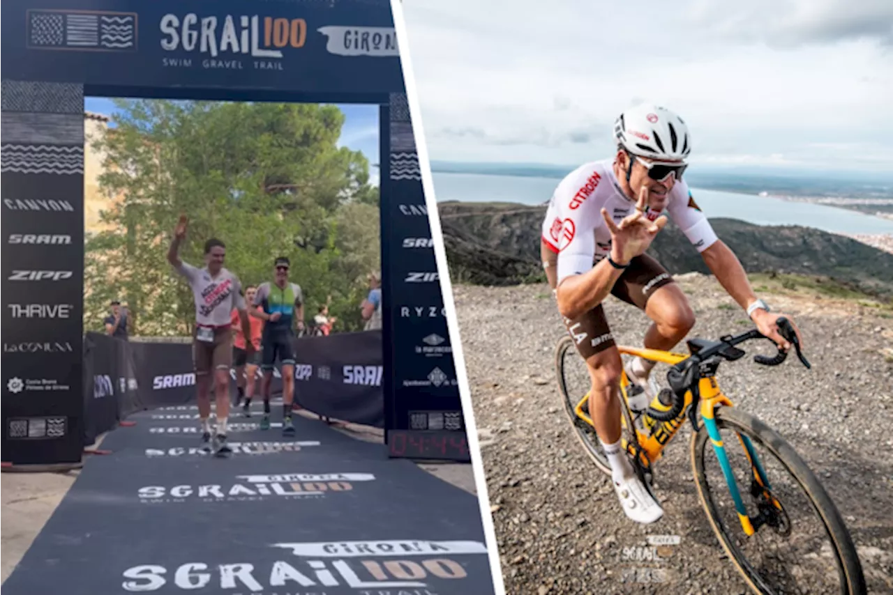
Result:
[[[304,47],[307,22],[258,14],[234,16],[168,13],[159,22],[166,68],[284,70],[283,50]],[[196,59],[192,56],[196,56]],[[243,62],[242,58],[250,58]]]

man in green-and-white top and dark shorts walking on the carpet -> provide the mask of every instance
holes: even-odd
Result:
[[[251,309],[248,313],[264,321],[261,347],[263,358],[261,369],[261,394],[263,395],[263,418],[261,429],[270,427],[270,390],[273,376],[273,365],[279,356],[282,363],[282,434],[294,435],[292,424],[292,401],[295,398],[295,350],[292,344],[295,338],[294,326],[304,329],[304,293],[300,285],[288,281],[288,258],[280,256],[273,266],[276,280],[262,283],[255,293],[255,306],[262,309]]]

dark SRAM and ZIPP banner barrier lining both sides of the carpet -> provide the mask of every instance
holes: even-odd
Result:
[[[381,332],[295,339],[295,402],[321,417],[384,427]],[[128,343],[108,335],[84,338],[84,444],[130,414],[196,400],[189,343]],[[230,392],[235,390],[230,373]],[[260,395],[260,371],[257,376]],[[280,394],[280,366],[272,394]],[[259,396],[258,396],[259,398]]]

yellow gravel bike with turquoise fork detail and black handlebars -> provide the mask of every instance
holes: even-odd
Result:
[[[803,365],[811,368],[789,320],[779,318],[778,325]],[[688,417],[693,428],[691,466],[701,504],[722,548],[753,591],[865,593],[853,540],[822,483],[780,434],[734,408],[717,382],[723,361],[745,355],[737,345],[760,338],[767,337],[755,329],[718,341],[695,338],[687,342],[688,355],[618,346],[622,356],[640,356],[670,367],[666,373],[669,388],[663,388],[643,411],[630,409],[628,392],[641,388],[622,374],[624,448],[639,478],[652,491],[655,463]],[[570,377],[574,356],[576,370],[583,371],[576,391]],[[754,360],[778,366],[787,357],[787,351],[779,350],[774,357],[755,355]],[[610,476],[611,467],[588,414],[586,364],[571,336],[558,342],[555,366],[573,430],[596,466]],[[707,442],[713,449],[706,448]],[[732,443],[740,449],[730,448]]]

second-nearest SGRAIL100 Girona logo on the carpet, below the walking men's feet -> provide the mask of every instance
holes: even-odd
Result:
[[[374,480],[375,475],[369,473],[238,475],[229,483],[147,485],[139,488],[137,497],[143,504],[320,499],[332,492],[350,492],[354,483]]]

